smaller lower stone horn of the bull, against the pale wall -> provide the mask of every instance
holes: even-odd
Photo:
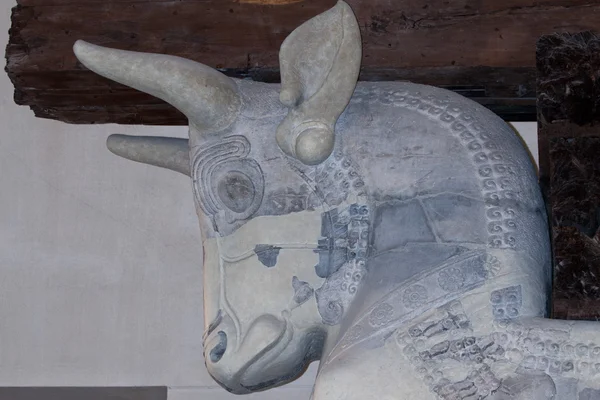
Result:
[[[155,165],[190,176],[187,139],[110,135],[106,147],[114,154],[144,164]]]

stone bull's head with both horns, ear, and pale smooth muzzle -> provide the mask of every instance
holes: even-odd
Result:
[[[74,52],[90,70],[189,119],[189,141],[112,135],[107,146],[193,180],[211,375],[235,393],[298,376],[319,358],[328,330],[313,295],[325,280],[314,265],[326,207],[307,174],[330,157],[334,126],[358,79],[360,32],[351,9],[340,1],[285,40],[281,87],[168,55],[83,41]]]

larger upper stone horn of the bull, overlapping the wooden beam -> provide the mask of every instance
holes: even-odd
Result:
[[[78,40],[75,55],[98,75],[166,101],[200,133],[229,127],[241,108],[235,81],[195,61],[164,54],[109,49]]]

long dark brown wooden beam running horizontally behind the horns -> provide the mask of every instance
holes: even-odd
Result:
[[[164,102],[87,71],[76,39],[173,54],[235,77],[279,79],[278,51],[336,0],[18,0],[6,70],[15,101],[69,123],[186,124]],[[456,90],[508,120],[535,120],[535,42],[600,26],[593,0],[348,0],[361,26],[361,80]]]

